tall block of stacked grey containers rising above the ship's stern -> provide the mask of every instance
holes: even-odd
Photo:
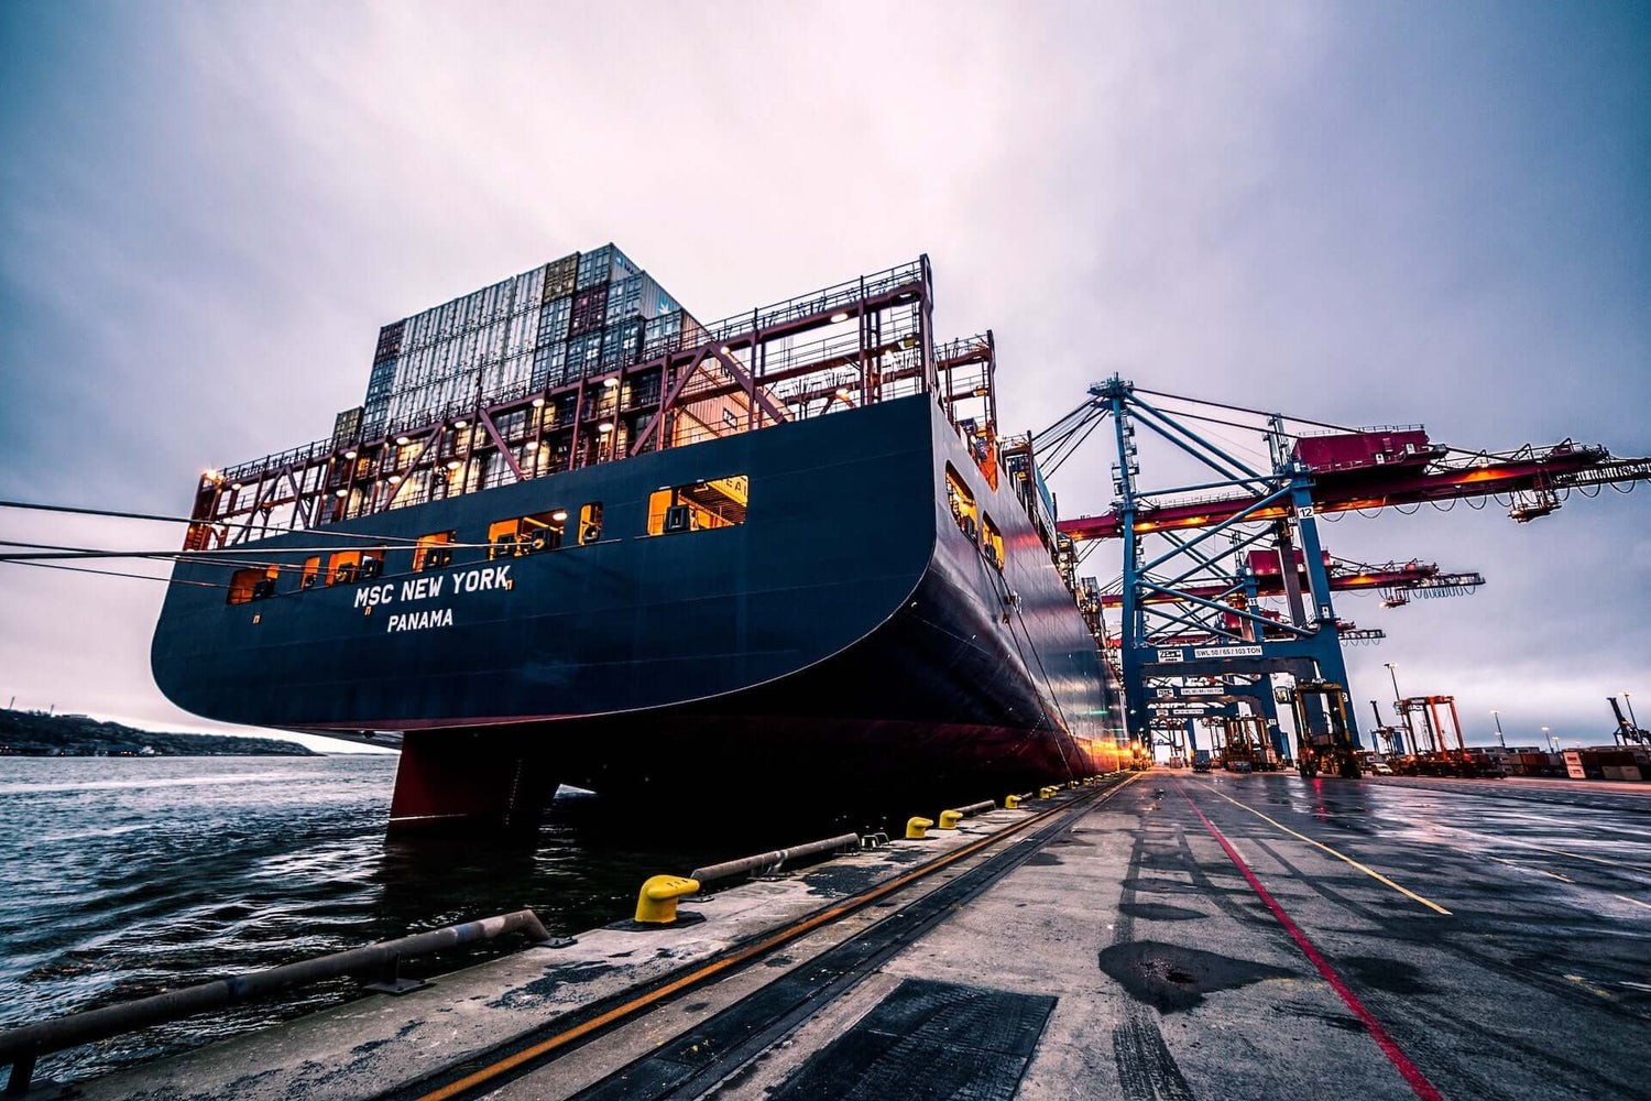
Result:
[[[340,414],[376,439],[474,408],[629,366],[705,330],[613,244],[575,253],[378,332],[367,401]]]

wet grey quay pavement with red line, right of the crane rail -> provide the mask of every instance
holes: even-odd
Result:
[[[1651,1098],[1651,801],[1517,794],[1147,774],[717,1096],[920,977],[1055,997],[1027,1099]]]

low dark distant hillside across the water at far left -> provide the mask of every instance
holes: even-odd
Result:
[[[33,758],[319,758],[296,741],[239,735],[172,735],[99,723],[86,715],[0,711],[0,756]]]

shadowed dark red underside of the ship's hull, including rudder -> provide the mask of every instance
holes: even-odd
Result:
[[[532,827],[560,782],[655,810],[692,807],[677,819],[690,827],[718,807],[933,815],[1118,768],[1111,743],[951,723],[674,715],[408,731],[390,827]]]

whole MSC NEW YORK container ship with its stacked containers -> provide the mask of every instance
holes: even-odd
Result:
[[[931,327],[928,258],[700,324],[611,244],[385,325],[332,436],[201,475],[155,682],[400,735],[391,829],[1111,771],[1096,586]]]

